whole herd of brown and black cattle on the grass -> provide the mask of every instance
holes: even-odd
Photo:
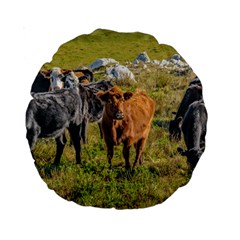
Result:
[[[123,92],[110,81],[95,82],[88,69],[54,67],[49,71],[39,71],[32,84],[31,95],[33,99],[26,111],[26,137],[32,155],[38,138],[55,138],[54,164],[59,164],[67,142],[65,131],[68,130],[76,163],[81,163],[81,141],[87,141],[88,123],[98,122],[110,166],[114,146],[121,143],[127,169],[131,168],[129,152],[132,145],[136,150],[133,168],[142,163],[156,105],[143,91]],[[179,141],[183,133],[187,149],[178,148],[178,152],[187,156],[193,170],[205,149],[207,125],[202,85],[197,77],[190,82],[175,114],[175,119],[169,124],[170,140]]]

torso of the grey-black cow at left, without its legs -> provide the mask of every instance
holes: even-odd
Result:
[[[55,137],[59,129],[81,123],[81,105],[75,89],[35,94],[26,111],[26,127],[38,125],[40,137]]]

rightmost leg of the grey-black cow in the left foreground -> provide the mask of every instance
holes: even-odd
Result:
[[[81,125],[71,125],[69,127],[69,133],[70,133],[70,137],[72,139],[73,142],[73,146],[75,149],[75,154],[76,154],[76,163],[80,164],[81,163],[81,143],[80,143],[80,129],[81,129]]]

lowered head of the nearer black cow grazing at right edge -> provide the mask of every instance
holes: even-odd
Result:
[[[177,150],[182,156],[187,157],[187,162],[190,166],[190,169],[193,171],[203,153],[203,150],[200,148],[191,148],[190,150],[184,151],[180,147]]]

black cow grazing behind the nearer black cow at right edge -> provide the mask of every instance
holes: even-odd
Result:
[[[181,117],[184,116],[188,109],[188,106],[191,103],[201,99],[203,99],[202,86],[200,86],[199,84],[189,85],[179,105],[175,118],[169,123],[170,140],[181,140],[181,129],[179,128],[179,122],[181,120]]]

